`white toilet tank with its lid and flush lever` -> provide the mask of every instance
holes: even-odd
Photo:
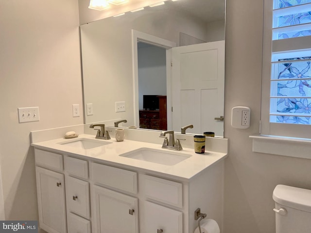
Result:
[[[278,184],[273,200],[276,233],[311,233],[311,190]]]

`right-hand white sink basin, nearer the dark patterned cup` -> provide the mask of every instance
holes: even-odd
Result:
[[[148,148],[140,148],[138,150],[133,150],[121,154],[120,156],[170,166],[178,164],[179,162],[191,157],[190,154],[182,154],[171,151],[167,152],[164,150],[155,150]]]

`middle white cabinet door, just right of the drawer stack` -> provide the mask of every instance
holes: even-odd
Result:
[[[138,233],[138,199],[93,185],[96,233]]]

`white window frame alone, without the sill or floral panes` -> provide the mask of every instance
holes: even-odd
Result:
[[[311,3],[308,3],[311,4]],[[260,134],[311,138],[311,125],[270,122],[271,57],[274,52],[310,49],[311,36],[272,40],[274,0],[264,0]]]

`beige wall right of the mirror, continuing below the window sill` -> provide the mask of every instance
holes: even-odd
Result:
[[[248,137],[259,132],[260,119],[263,0],[226,4],[225,233],[275,233],[273,189],[311,189],[311,160],[252,152]],[[239,105],[251,108],[247,130],[230,126],[231,108]]]

